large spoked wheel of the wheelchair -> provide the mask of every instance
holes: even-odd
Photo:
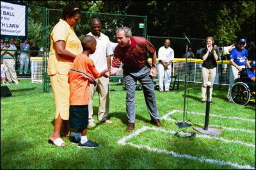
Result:
[[[233,103],[246,105],[250,101],[251,97],[251,92],[248,85],[243,82],[234,83],[231,89],[230,97]]]

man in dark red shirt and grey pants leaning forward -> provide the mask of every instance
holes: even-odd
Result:
[[[120,27],[116,30],[118,45],[114,51],[111,74],[116,74],[121,62],[124,64],[124,84],[126,90],[126,115],[128,125],[126,131],[131,132],[135,127],[135,88],[136,81],[140,81],[143,94],[151,118],[151,124],[163,126],[159,121],[159,112],[156,106],[153,78],[156,77],[156,49],[145,38],[132,36],[129,27]],[[152,58],[152,67],[148,63],[147,52]]]

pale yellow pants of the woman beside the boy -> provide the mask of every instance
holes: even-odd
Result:
[[[56,73],[52,74],[50,79],[56,106],[55,119],[58,118],[60,114],[61,119],[68,120],[70,96],[68,75]]]

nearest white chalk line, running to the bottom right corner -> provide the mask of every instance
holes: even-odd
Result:
[[[171,154],[171,155],[173,155],[173,157],[180,157],[180,158],[185,158],[185,159],[194,159],[194,160],[199,160],[200,162],[208,162],[210,164],[218,164],[220,166],[227,166],[228,165],[228,166],[236,167],[237,169],[255,169],[255,167],[240,166],[239,164],[236,164],[236,163],[233,163],[233,162],[225,162],[225,161],[216,160],[216,159],[206,159],[205,157],[195,157],[195,156],[186,155],[186,154],[179,154],[179,153],[175,153],[175,152],[167,151],[167,150],[159,150],[157,148],[151,148],[147,145],[136,145],[134,143],[126,143],[126,145],[131,145],[131,146],[134,146],[136,148],[147,148],[150,151]]]

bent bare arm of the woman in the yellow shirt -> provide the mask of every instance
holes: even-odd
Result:
[[[76,58],[76,55],[74,53],[68,52],[66,50],[66,42],[65,41],[57,41],[54,43],[54,47],[56,49],[56,53],[60,55],[61,58],[63,59],[68,59],[68,60],[74,60]]]

